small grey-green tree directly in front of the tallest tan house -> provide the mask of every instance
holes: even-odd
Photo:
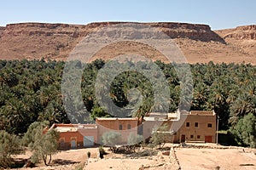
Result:
[[[162,148],[166,144],[166,139],[168,138],[168,135],[170,135],[169,133],[166,133],[168,131],[168,126],[164,124],[160,127],[154,127],[154,129],[154,133],[152,134],[149,141],[154,146],[159,144],[159,148]]]

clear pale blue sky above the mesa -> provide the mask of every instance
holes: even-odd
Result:
[[[0,26],[20,22],[171,21],[207,24],[217,30],[256,24],[255,8],[255,0],[3,0]]]

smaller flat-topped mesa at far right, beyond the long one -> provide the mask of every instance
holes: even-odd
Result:
[[[224,38],[235,38],[236,40],[256,40],[256,25],[237,26],[224,36]]]

